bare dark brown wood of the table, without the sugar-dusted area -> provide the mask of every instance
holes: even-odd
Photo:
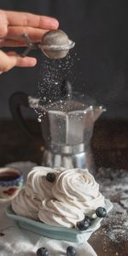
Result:
[[[28,120],[28,125],[36,134],[33,139],[26,137],[14,121],[0,121],[0,166],[19,160],[32,160],[40,164],[43,139],[39,124],[35,120]],[[127,121],[98,121],[95,125],[91,144],[96,170],[101,166],[113,170],[128,170]],[[120,236],[119,241],[113,241],[105,233],[105,230],[108,230],[107,224],[103,224],[102,228],[90,237],[90,244],[96,250],[97,255],[128,256],[128,236],[125,240]]]

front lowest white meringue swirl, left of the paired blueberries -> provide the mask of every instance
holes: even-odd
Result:
[[[57,201],[55,199],[44,200],[38,212],[38,218],[45,224],[52,226],[64,226],[72,228],[80,220],[84,219],[84,213],[77,207]]]

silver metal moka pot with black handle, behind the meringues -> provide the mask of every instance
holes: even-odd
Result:
[[[33,108],[38,112],[44,153],[42,166],[63,166],[66,168],[88,168],[95,172],[90,140],[96,119],[106,109],[97,106],[89,96],[72,91],[68,81],[61,85],[61,96],[56,101],[42,101],[23,92],[10,97],[9,105],[13,117],[29,135],[20,106]]]

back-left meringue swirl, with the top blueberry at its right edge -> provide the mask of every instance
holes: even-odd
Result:
[[[38,198],[44,200],[51,197],[51,183],[47,181],[46,176],[49,172],[55,174],[64,171],[64,168],[49,168],[44,166],[37,166],[32,169],[26,180],[26,195],[31,198]]]

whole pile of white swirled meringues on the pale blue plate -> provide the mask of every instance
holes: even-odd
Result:
[[[87,230],[94,218],[107,214],[99,184],[88,170],[79,168],[34,167],[12,208],[44,224],[79,230]]]

